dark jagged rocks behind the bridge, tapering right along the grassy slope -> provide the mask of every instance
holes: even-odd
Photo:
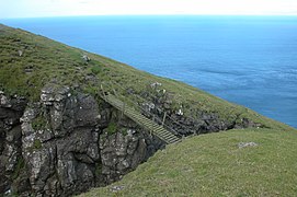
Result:
[[[135,94],[133,90],[127,91],[127,93]],[[191,106],[174,103],[174,94],[168,92],[158,82],[151,83],[147,90],[138,94],[145,101],[140,104],[142,114],[148,118],[153,116],[153,119],[160,124],[163,121],[165,114],[164,124],[174,129],[179,136],[201,135],[232,128],[262,127],[261,124],[253,123],[248,118],[241,118],[240,115],[235,116],[233,119],[221,119],[215,112],[191,109],[195,118],[186,116],[184,111],[191,108]]]

